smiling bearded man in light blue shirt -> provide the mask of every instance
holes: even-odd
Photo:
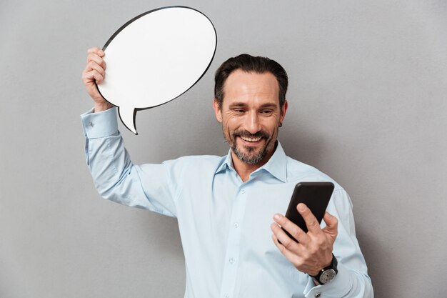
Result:
[[[94,86],[104,79],[103,56],[89,49],[83,72],[94,99],[94,110],[81,116],[87,164],[104,198],[178,219],[185,297],[373,297],[348,194],[286,157],[277,141],[288,108],[281,65],[243,54],[216,71],[213,107],[231,147],[226,157],[137,166],[124,149],[116,110]],[[336,185],[321,226],[298,204],[308,233],[280,214],[303,181]]]

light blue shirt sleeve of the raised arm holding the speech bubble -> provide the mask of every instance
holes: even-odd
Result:
[[[81,115],[86,163],[104,199],[176,217],[175,185],[166,164],[134,165],[118,130],[116,108]]]

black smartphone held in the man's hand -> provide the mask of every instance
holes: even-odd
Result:
[[[304,222],[303,217],[296,210],[296,206],[299,203],[304,203],[311,209],[311,212],[316,217],[319,223],[324,217],[326,212],[326,207],[328,207],[329,200],[331,199],[333,192],[332,182],[299,182],[296,184],[293,194],[288,204],[286,217],[300,227],[304,232],[308,232],[306,222]],[[288,232],[283,229],[284,232],[291,237],[291,239],[297,241],[295,238],[288,234]]]

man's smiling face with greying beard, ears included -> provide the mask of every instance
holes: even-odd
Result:
[[[287,109],[287,101],[279,107],[278,94],[278,81],[270,72],[236,70],[228,76],[222,106],[216,100],[213,105],[233,158],[259,167],[270,159]]]

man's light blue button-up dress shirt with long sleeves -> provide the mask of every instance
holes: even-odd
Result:
[[[186,260],[184,297],[373,297],[348,194],[326,174],[286,157],[281,144],[242,182],[230,153],[134,165],[115,108],[89,111],[81,119],[98,192],[120,204],[177,218]],[[338,218],[333,248],[338,274],[333,282],[315,286],[273,244],[270,224],[273,214],[285,214],[297,182],[318,181],[336,185],[327,211]]]

